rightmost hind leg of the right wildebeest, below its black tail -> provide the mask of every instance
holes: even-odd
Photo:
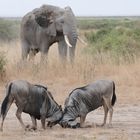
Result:
[[[104,101],[105,101],[105,104],[108,108],[108,111],[109,111],[109,114],[110,114],[110,117],[109,117],[109,126],[112,126],[111,122],[112,122],[112,116],[113,116],[113,107],[111,105],[111,99],[110,98],[105,98],[103,97]]]

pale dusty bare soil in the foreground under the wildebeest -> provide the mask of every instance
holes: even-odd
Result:
[[[55,87],[54,87],[55,88]],[[57,88],[57,87],[56,87]],[[4,123],[4,131],[0,132],[0,139],[3,140],[37,140],[37,139],[98,139],[98,140],[138,140],[140,139],[140,96],[132,97],[130,94],[132,87],[121,87],[129,89],[129,92],[120,97],[117,95],[117,102],[114,106],[113,126],[111,128],[96,127],[95,124],[101,124],[103,121],[103,109],[99,108],[88,114],[86,124],[91,124],[92,128],[78,128],[78,129],[64,129],[56,125],[53,128],[41,129],[40,121],[38,121],[38,130],[34,132],[25,132],[22,130],[18,120],[16,119],[15,112],[16,106],[12,105],[7,118]],[[62,90],[62,89],[61,89]],[[137,89],[140,91],[140,89]],[[121,90],[120,90],[121,91]],[[139,94],[139,92],[137,92]],[[117,94],[117,93],[116,93]],[[130,98],[131,96],[131,98]],[[1,95],[1,100],[4,94]],[[59,98],[59,97],[58,97]],[[62,98],[62,97],[61,97]],[[134,101],[134,100],[135,101]],[[58,100],[58,99],[57,99]],[[26,124],[31,124],[28,115],[22,115]]]

